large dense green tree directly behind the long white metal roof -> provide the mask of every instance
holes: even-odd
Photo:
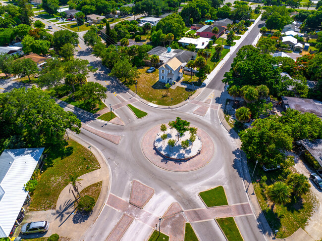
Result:
[[[13,89],[0,94],[1,147],[49,147],[62,145],[66,129],[80,133],[81,122],[72,112],[65,112],[46,92]]]

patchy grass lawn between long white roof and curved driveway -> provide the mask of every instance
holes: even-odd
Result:
[[[60,192],[69,184],[70,174],[81,176],[100,168],[91,151],[69,139],[68,145],[47,150],[45,170],[38,180],[29,209],[55,209]]]

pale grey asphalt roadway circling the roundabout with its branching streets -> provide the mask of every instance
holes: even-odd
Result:
[[[61,29],[52,22],[42,21],[47,25],[52,25],[53,31]],[[252,44],[259,33],[259,24],[251,30],[241,46]],[[84,33],[79,34],[82,36]],[[98,72],[91,75],[89,80],[100,82],[107,87],[108,97],[105,100],[107,104],[111,103],[113,105],[121,102],[117,95],[122,96],[125,100],[133,98],[107,75],[107,69],[101,65],[98,58],[91,54],[91,49],[84,45],[82,37],[80,37],[80,44],[77,50],[77,57],[88,59],[92,66],[99,69]],[[229,70],[237,50],[196,99],[205,101],[211,94],[215,94],[212,103],[220,103],[224,90],[224,84],[221,80],[223,74]],[[10,89],[10,83],[1,82],[0,86],[1,88],[4,87],[3,89]],[[174,201],[179,202],[183,209],[205,207],[198,193],[219,185],[224,187],[229,204],[248,202],[242,182],[240,155],[237,147],[239,140],[232,133],[228,133],[220,124],[217,110],[209,109],[207,114],[201,117],[192,113],[199,106],[191,103],[176,109],[158,109],[140,101],[134,105],[148,112],[149,115],[138,120],[124,106],[115,110],[115,112],[125,122],[125,126],[105,124],[100,120],[95,120],[89,124],[90,127],[95,129],[120,135],[122,138],[119,145],[114,145],[84,129],[81,130],[79,135],[91,145],[97,146],[105,155],[112,173],[111,193],[128,201],[132,180],[139,180],[155,190],[154,196],[145,209],[158,216],[162,216]],[[205,167],[187,173],[170,172],[155,166],[143,155],[141,141],[144,134],[152,127],[167,123],[175,119],[176,116],[186,119],[193,125],[205,130],[212,138],[215,153],[212,160]],[[119,218],[119,212],[105,206],[97,221],[80,240],[104,241]],[[245,240],[265,240],[261,230],[258,228],[255,216],[239,217],[236,222]],[[192,226],[202,241],[225,240],[214,220],[193,223]],[[134,222],[124,237],[135,237],[133,240],[142,241],[147,239],[150,233],[151,227]]]

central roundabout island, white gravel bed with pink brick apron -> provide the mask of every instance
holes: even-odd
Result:
[[[145,157],[154,165],[174,172],[188,172],[207,165],[215,152],[215,146],[210,136],[202,129],[192,126],[196,130],[194,142],[189,141],[189,132],[178,137],[177,131],[167,128],[160,131],[160,125],[153,127],[142,139],[142,151]],[[161,136],[166,135],[162,140]],[[174,145],[169,145],[173,140]],[[182,142],[189,142],[186,148]]]

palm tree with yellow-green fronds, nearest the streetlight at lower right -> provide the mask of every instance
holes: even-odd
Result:
[[[292,188],[283,182],[276,182],[267,188],[267,195],[271,201],[278,204],[285,204],[291,201]],[[274,206],[272,206],[272,209]]]

